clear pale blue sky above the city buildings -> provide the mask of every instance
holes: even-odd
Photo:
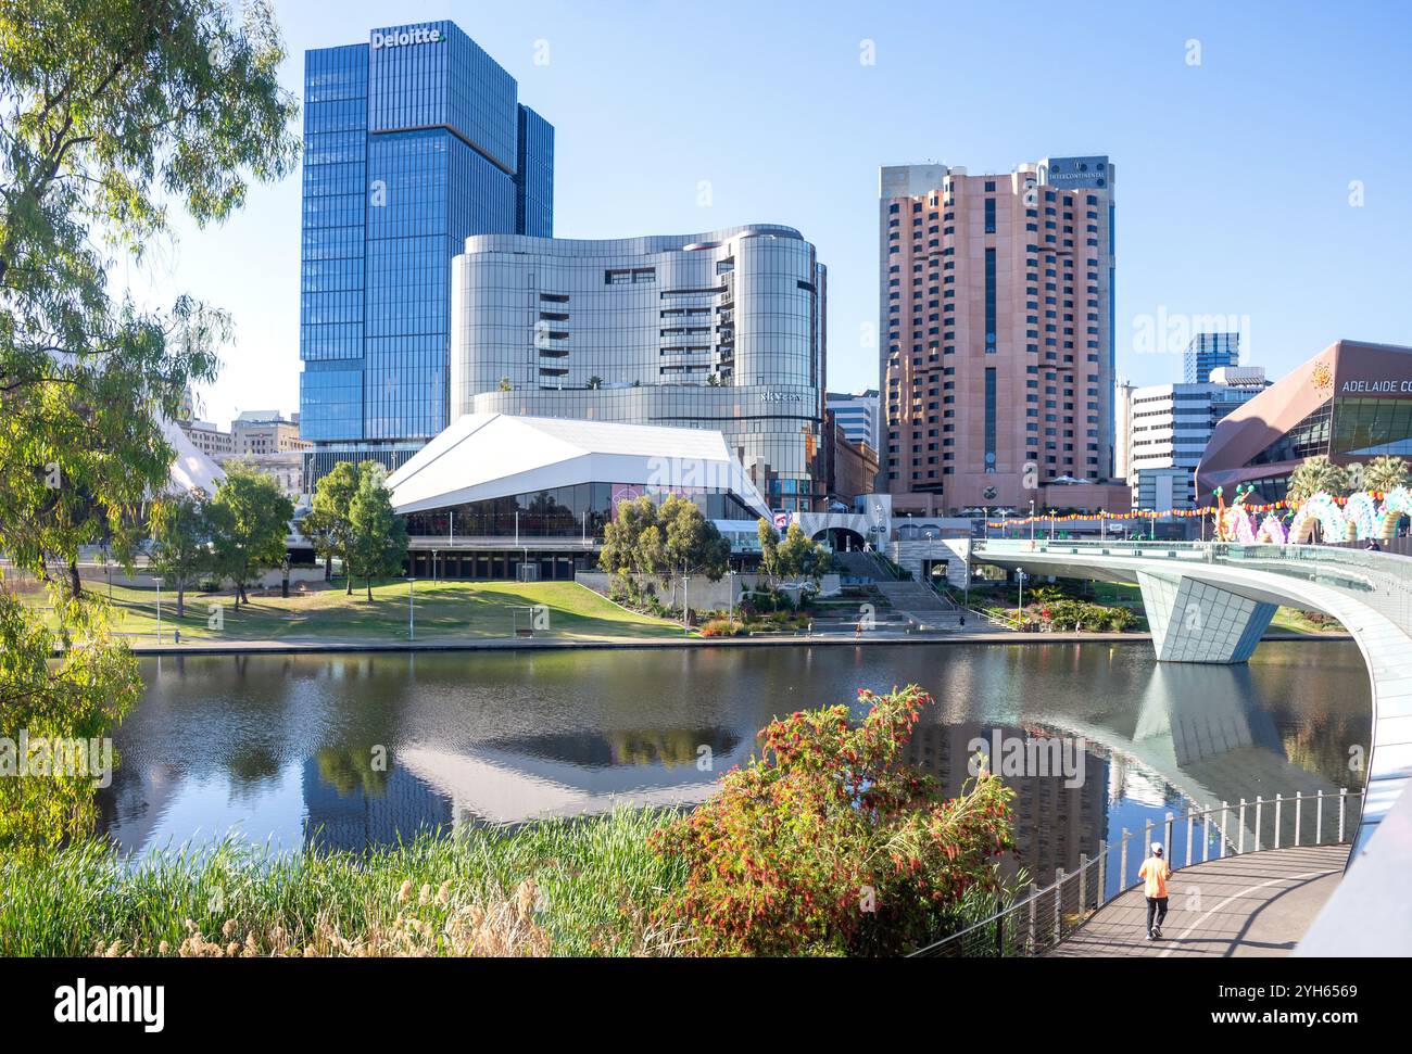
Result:
[[[306,48],[452,18],[555,126],[555,234],[796,227],[829,268],[827,378],[877,387],[878,168],[1115,166],[1118,374],[1182,380],[1186,329],[1272,377],[1337,339],[1412,344],[1412,3],[277,0]],[[209,420],[298,409],[299,178],[181,222],[124,279],[232,312]],[[1219,319],[1217,319],[1219,320]]]

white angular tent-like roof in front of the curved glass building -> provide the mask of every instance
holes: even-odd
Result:
[[[580,483],[726,490],[770,515],[726,439],[707,429],[467,413],[387,477],[400,514]]]

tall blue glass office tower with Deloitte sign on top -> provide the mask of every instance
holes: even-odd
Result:
[[[305,54],[299,423],[306,485],[446,428],[450,258],[554,229],[554,126],[450,21]]]

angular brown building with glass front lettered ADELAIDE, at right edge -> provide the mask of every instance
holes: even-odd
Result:
[[[1339,340],[1231,411],[1196,470],[1197,497],[1248,484],[1255,501],[1281,501],[1316,454],[1344,466],[1412,456],[1412,347]]]

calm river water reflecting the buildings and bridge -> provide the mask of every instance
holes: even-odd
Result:
[[[1348,749],[1370,731],[1351,643],[1265,643],[1248,666],[1158,666],[1145,645],[1087,643],[198,656],[143,669],[147,696],[117,731],[121,762],[102,794],[103,825],[133,851],[227,831],[357,849],[419,828],[696,801],[772,715],[916,682],[936,705],[912,761],[947,790],[966,779],[974,738],[1082,737],[1080,780],[1010,780],[1022,862],[1052,875],[1192,800],[1356,787]]]

